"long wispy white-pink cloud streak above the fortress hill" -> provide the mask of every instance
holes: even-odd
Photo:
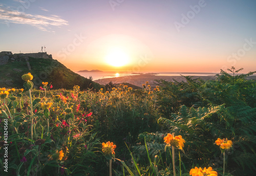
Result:
[[[50,26],[61,27],[68,25],[68,21],[61,19],[61,17],[57,15],[32,15],[17,10],[11,10],[10,7],[4,7],[3,5],[0,5],[0,23],[6,23],[7,25],[9,23],[28,24],[41,31],[48,32],[50,32]]]

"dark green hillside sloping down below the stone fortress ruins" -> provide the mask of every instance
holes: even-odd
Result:
[[[73,89],[74,85],[80,90],[93,88],[98,90],[102,86],[90,79],[68,69],[54,59],[28,57],[28,60],[9,60],[5,65],[0,65],[0,87],[23,88],[22,75],[30,72],[34,78],[35,87],[40,87],[41,82],[48,82],[53,89]]]

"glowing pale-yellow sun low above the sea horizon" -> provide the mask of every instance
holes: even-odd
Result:
[[[130,58],[121,49],[113,49],[106,55],[105,61],[109,65],[120,67],[129,63]]]

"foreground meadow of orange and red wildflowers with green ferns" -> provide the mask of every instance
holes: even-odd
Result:
[[[24,74],[0,88],[0,175],[253,175],[253,73],[99,91]]]

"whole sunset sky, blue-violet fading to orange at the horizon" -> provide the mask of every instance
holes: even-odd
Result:
[[[74,71],[255,71],[256,1],[1,0],[0,52],[41,46]]]

